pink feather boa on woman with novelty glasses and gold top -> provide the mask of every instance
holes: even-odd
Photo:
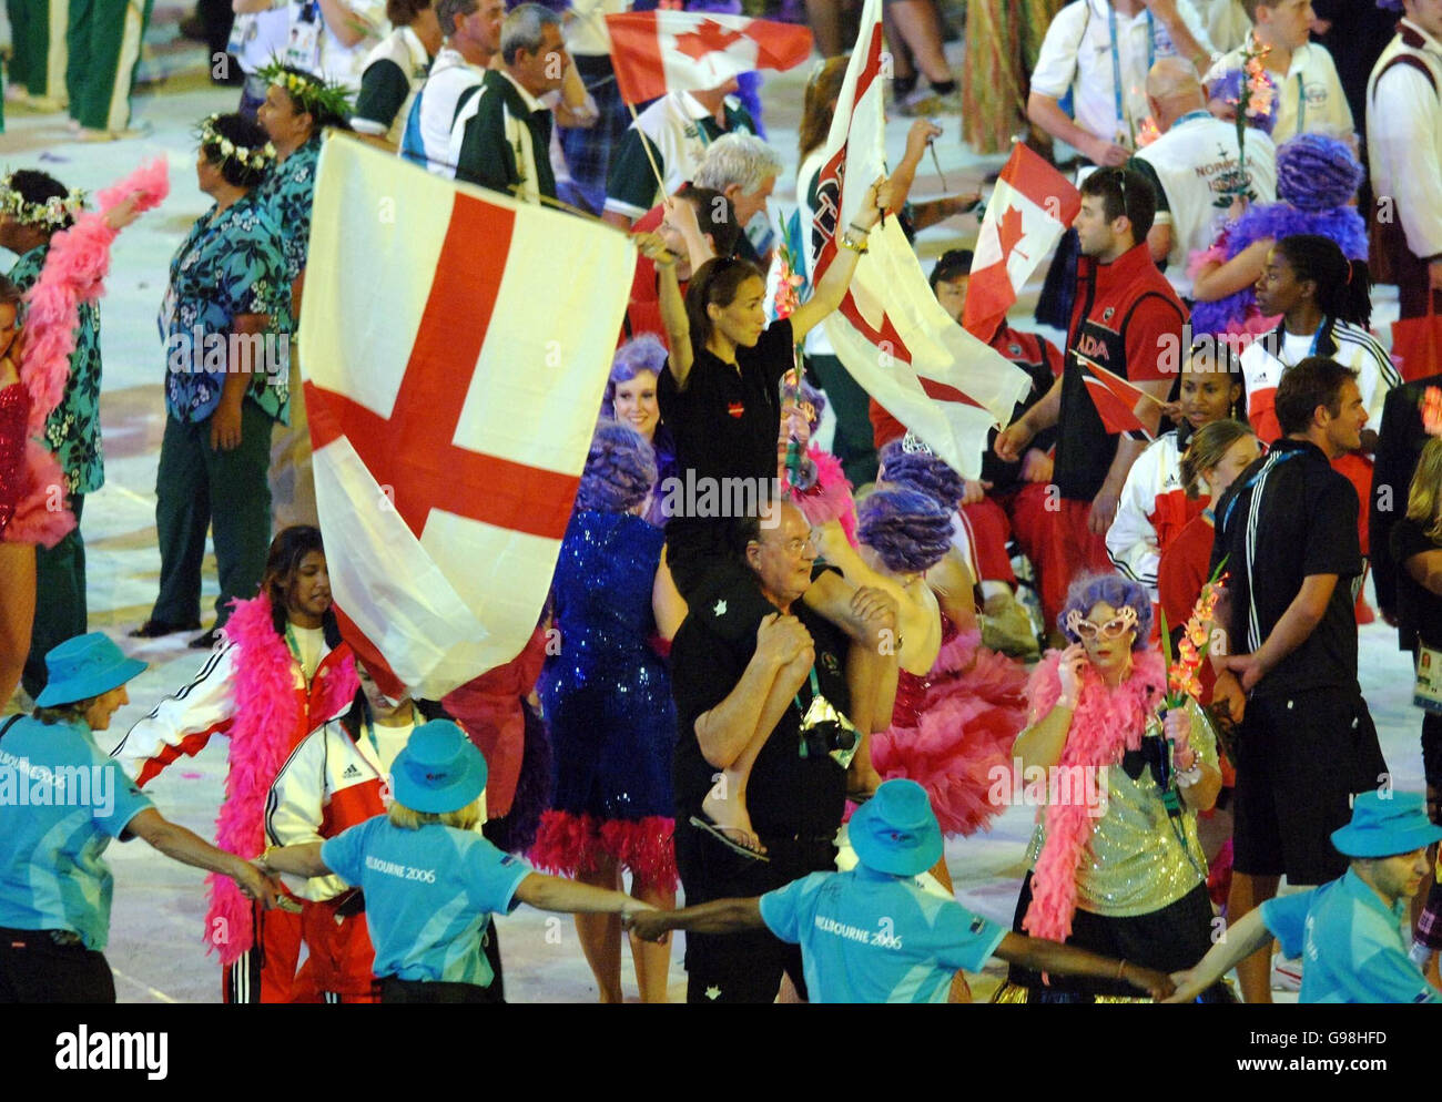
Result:
[[[1031,674],[1027,697],[1032,722],[1047,714],[1061,696],[1057,666],[1060,651],[1047,651]],[[1167,689],[1167,664],[1156,651],[1132,655],[1132,676],[1107,689],[1092,663],[1082,674],[1082,693],[1071,717],[1063,768],[1118,765],[1126,751],[1141,749],[1146,720]],[[1031,908],[1022,928],[1034,938],[1066,941],[1077,906],[1077,867],[1092,840],[1096,820],[1080,801],[1048,804],[1044,810],[1047,836],[1031,880]]]

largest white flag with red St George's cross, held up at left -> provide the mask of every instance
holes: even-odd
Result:
[[[314,194],[300,362],[332,596],[385,691],[438,700],[535,630],[636,249],[342,137]]]

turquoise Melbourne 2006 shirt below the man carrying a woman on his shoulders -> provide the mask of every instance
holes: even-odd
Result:
[[[1007,936],[956,900],[865,866],[767,892],[761,919],[802,946],[813,1003],[945,1003],[955,972],[979,971]]]

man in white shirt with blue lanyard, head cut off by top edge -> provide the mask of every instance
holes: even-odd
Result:
[[[1136,148],[1146,120],[1144,88],[1152,63],[1182,58],[1200,72],[1210,55],[1191,0],[1077,0],[1047,27],[1027,118],[1093,164],[1119,166]],[[1070,117],[1060,105],[1069,91]]]

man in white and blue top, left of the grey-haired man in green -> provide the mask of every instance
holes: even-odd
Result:
[[[451,127],[463,101],[479,91],[486,68],[500,52],[506,3],[435,0],[435,17],[446,40],[431,63],[431,75],[411,99],[401,156],[437,176],[453,177]]]

